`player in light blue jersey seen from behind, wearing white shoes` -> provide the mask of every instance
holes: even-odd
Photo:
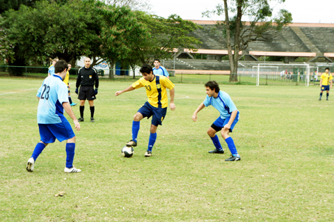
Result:
[[[37,157],[49,143],[54,143],[57,138],[60,142],[67,140],[65,173],[78,173],[81,170],[73,166],[75,134],[70,122],[63,114],[65,109],[68,116],[72,118],[75,128],[79,131],[80,124],[68,102],[67,86],[63,82],[68,66],[65,61],[61,60],[54,65],[54,68],[56,73],[47,77],[38,89],[37,122],[40,129],[40,142],[35,146],[35,150],[26,164],[26,170],[33,172]]]

